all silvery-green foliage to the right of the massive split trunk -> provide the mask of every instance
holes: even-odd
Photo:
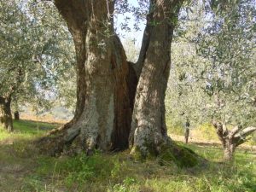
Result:
[[[193,128],[212,119],[255,125],[255,16],[253,1],[227,4],[221,12],[198,2],[182,12],[166,92],[172,130],[186,119]]]

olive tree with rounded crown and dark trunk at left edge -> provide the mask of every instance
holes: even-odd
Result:
[[[16,109],[27,101],[45,107],[57,77],[70,67],[67,27],[47,4],[44,9],[31,6],[27,1],[1,2],[1,121],[9,131],[13,130],[11,101]]]

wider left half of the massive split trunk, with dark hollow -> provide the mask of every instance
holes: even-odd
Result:
[[[113,32],[113,2],[89,2],[55,1],[73,35],[78,78],[76,113],[54,141],[55,152],[67,144],[89,152],[128,147],[134,71]]]

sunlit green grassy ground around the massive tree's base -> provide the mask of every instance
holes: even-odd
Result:
[[[0,129],[0,191],[256,191],[252,150],[238,149],[234,164],[227,165],[221,163],[220,146],[190,143],[209,163],[189,169],[172,162],[134,161],[129,151],[73,158],[38,154],[31,141],[56,126],[20,120],[13,134]]]

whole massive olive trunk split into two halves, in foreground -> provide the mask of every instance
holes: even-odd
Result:
[[[166,133],[165,92],[181,2],[151,1],[154,11],[148,15],[134,69],[113,32],[114,1],[55,0],[76,47],[78,102],[74,119],[44,149],[55,154],[65,146],[79,146],[90,154],[94,148],[124,149],[130,141],[132,151],[138,149],[144,156],[165,151],[163,159],[195,166],[195,153],[170,143]]]

